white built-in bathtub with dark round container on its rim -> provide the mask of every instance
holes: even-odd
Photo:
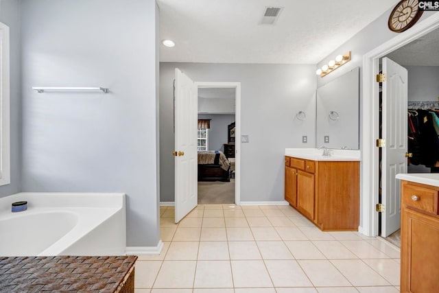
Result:
[[[11,212],[27,201],[27,211]],[[125,255],[124,194],[27,193],[0,198],[0,256]]]

